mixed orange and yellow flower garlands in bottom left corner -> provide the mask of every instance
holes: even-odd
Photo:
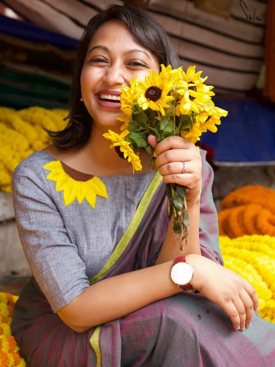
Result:
[[[19,347],[11,335],[11,321],[14,304],[18,297],[0,292],[0,366],[25,367],[26,363],[19,355]]]

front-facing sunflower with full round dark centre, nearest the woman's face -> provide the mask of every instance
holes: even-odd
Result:
[[[168,95],[172,89],[172,80],[168,81],[168,77],[165,74],[158,75],[153,70],[149,76],[145,77],[145,81],[137,80],[136,82],[137,103],[143,110],[150,108],[154,111],[160,111],[162,116],[164,116],[164,108],[170,107],[167,102],[174,99],[172,95]]]

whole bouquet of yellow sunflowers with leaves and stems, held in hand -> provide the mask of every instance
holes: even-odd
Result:
[[[120,135],[109,130],[103,136],[112,141],[110,148],[122,159],[132,163],[134,171],[142,170],[139,149],[152,154],[154,149],[148,144],[149,135],[155,135],[157,141],[170,136],[181,136],[193,143],[200,140],[202,132],[217,131],[220,117],[227,111],[214,105],[211,97],[212,86],[204,84],[207,77],[201,77],[201,71],[195,72],[190,66],[185,73],[182,67],[172,69],[161,65],[158,74],[152,71],[145,81],[132,78],[130,87],[121,88],[121,110],[124,115],[117,117],[123,122]],[[152,158],[152,169],[155,158]],[[188,188],[178,184],[166,184],[168,213],[173,203],[174,232],[180,236],[179,246],[183,250],[186,244],[189,224],[186,206]]]

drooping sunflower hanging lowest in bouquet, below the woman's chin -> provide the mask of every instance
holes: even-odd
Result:
[[[114,131],[108,130],[105,134],[103,134],[104,138],[110,139],[113,144],[110,145],[110,148],[115,148],[115,152],[122,159],[127,159],[128,162],[132,163],[133,173],[136,171],[142,170],[142,165],[140,163],[140,159],[138,153],[136,154],[133,149],[129,146],[131,143],[125,141],[124,138],[129,134],[129,130],[124,130],[119,135]]]

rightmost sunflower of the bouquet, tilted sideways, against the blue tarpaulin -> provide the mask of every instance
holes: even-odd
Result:
[[[216,125],[220,125],[220,118],[227,116],[228,111],[225,111],[219,107],[215,107],[208,103],[202,107],[201,113],[196,117],[196,122],[200,124],[199,129],[204,132],[210,130],[212,132],[217,131]]]

